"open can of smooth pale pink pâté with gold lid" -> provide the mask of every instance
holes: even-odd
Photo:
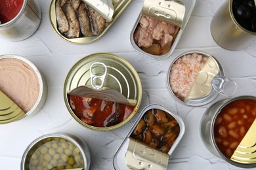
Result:
[[[28,59],[0,56],[0,124],[32,116],[45,104],[47,82]]]

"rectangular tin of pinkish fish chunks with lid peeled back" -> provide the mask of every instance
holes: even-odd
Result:
[[[152,59],[166,59],[175,50],[196,0],[145,0],[130,34],[133,48]]]

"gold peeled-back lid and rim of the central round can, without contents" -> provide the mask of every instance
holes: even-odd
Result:
[[[87,88],[93,89],[91,84],[90,67],[95,62],[104,63],[104,65],[106,65],[107,67],[107,69],[105,70],[104,68],[100,67],[100,65],[95,65],[93,69],[93,71],[96,71],[95,74],[100,74],[100,72],[104,73],[106,71],[106,77],[104,78],[104,82],[102,84],[102,88],[100,88],[100,91],[110,89],[116,90],[117,92],[121,93],[121,95],[123,95],[127,99],[127,101],[131,103],[131,105],[135,107],[128,118],[114,126],[89,126],[88,124],[85,124],[85,122],[77,118],[77,116],[75,116],[74,112],[70,108],[68,93],[72,92],[72,90],[79,86],[87,86]],[[70,114],[75,118],[75,120],[77,120],[77,122],[79,122],[79,124],[85,127],[89,127],[89,129],[94,129],[98,131],[112,130],[116,129],[117,127],[123,126],[123,124],[126,124],[135,115],[137,109],[139,109],[141,99],[142,85],[137,71],[127,60],[114,54],[91,54],[77,61],[72,69],[70,69],[70,72],[66,76],[66,80],[64,83],[64,101]]]

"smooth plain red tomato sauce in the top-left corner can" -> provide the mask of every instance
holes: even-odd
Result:
[[[1,24],[11,21],[22,9],[24,0],[1,0],[0,21]]]

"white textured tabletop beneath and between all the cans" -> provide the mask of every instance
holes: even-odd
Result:
[[[0,54],[19,54],[30,59],[45,75],[49,93],[43,109],[31,118],[0,125],[0,169],[20,169],[22,154],[34,139],[48,133],[73,132],[82,137],[91,149],[91,169],[112,169],[112,157],[129,131],[139,112],[150,103],[158,103],[181,116],[186,131],[181,143],[169,159],[168,169],[238,169],[213,156],[200,139],[200,118],[209,105],[184,107],[167,89],[169,65],[182,52],[202,50],[215,56],[224,75],[238,84],[235,95],[256,95],[256,41],[245,50],[231,52],[217,46],[210,33],[213,14],[221,0],[198,0],[175,52],[163,61],[154,61],[133,50],[129,33],[142,7],[142,0],[133,1],[99,41],[71,44],[60,38],[49,21],[51,1],[39,1],[43,18],[37,32],[24,41],[0,39]],[[63,99],[66,74],[79,59],[96,52],[110,52],[127,59],[139,73],[143,97],[138,114],[125,126],[114,131],[92,131],[80,126],[70,116]]]

